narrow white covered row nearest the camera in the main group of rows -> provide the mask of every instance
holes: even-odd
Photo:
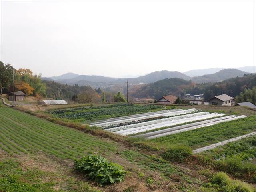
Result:
[[[224,120],[218,120],[218,121],[214,121],[214,122],[210,122],[210,123],[206,123],[206,124],[202,124],[202,125],[197,125],[197,126],[192,126],[192,127],[188,127],[188,128],[184,128],[184,129],[179,129],[179,130],[174,130],[171,132],[167,132],[167,133],[163,133],[163,134],[158,134],[155,136],[150,136],[147,139],[154,139],[154,138],[158,138],[158,137],[162,137],[162,136],[167,136],[167,135],[172,135],[172,134],[176,134],[176,133],[180,133],[180,132],[184,132],[184,131],[189,131],[189,130],[193,130],[193,129],[198,129],[201,127],[207,127],[207,126],[211,126],[211,125],[215,125],[221,122],[228,122],[228,121],[233,121],[236,119],[241,119],[241,118],[245,118],[245,115],[241,115],[238,117],[232,117],[232,118],[228,118],[228,119],[224,119]]]

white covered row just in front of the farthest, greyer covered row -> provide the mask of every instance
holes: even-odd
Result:
[[[100,124],[95,124],[95,125],[99,126],[99,127],[107,127],[107,126],[111,126],[114,124],[138,121],[138,120],[149,119],[149,118],[154,118],[154,117],[168,117],[168,116],[175,116],[175,115],[181,115],[181,114],[188,114],[188,113],[192,113],[194,111],[196,111],[196,109],[180,110],[180,111],[175,111],[175,112],[166,112],[166,113],[162,113],[162,114],[146,115],[146,116],[124,119],[124,120],[116,120],[116,121],[112,121],[112,122],[105,122],[105,123],[100,123]]]

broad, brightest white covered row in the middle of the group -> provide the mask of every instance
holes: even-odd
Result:
[[[203,119],[208,119],[208,118],[213,118],[213,117],[218,117],[218,116],[223,116],[223,115],[225,115],[225,114],[217,114],[217,113],[205,114],[205,115],[201,115],[201,116],[172,120],[169,122],[162,122],[162,123],[132,128],[132,129],[128,129],[128,130],[121,130],[121,131],[117,131],[114,133],[118,133],[121,135],[131,135],[131,134],[141,133],[141,132],[154,130],[154,129],[158,129],[158,128],[162,128],[162,127],[174,126],[177,124],[187,123],[187,122],[196,121],[196,120],[203,120]]]

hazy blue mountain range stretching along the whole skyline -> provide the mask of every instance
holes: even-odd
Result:
[[[253,72],[254,67],[243,67],[246,69],[245,72],[238,69],[222,69],[222,68],[211,68],[211,69],[203,69],[203,70],[191,70],[185,73],[181,73],[178,71],[155,71],[145,76],[140,76],[136,78],[113,78],[113,77],[104,77],[104,76],[96,76],[96,75],[78,75],[74,73],[66,73],[60,76],[53,76],[49,78],[42,78],[43,80],[53,80],[56,82],[60,82],[63,84],[78,84],[80,86],[87,85],[92,86],[94,88],[97,87],[108,87],[114,86],[116,84],[124,84],[127,80],[129,84],[148,84],[153,83],[166,78],[180,78],[184,80],[192,80],[192,82],[202,83],[202,82],[218,82],[222,80],[226,80],[228,78],[233,77],[241,77],[244,74],[249,74]],[[217,71],[217,72],[215,72]],[[201,76],[190,77],[193,74],[204,74]],[[190,76],[188,75],[190,74]]]

